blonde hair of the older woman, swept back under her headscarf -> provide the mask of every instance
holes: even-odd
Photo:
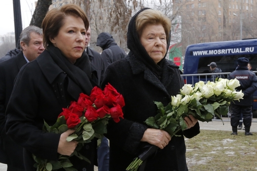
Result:
[[[154,9],[146,9],[137,15],[135,27],[139,39],[142,35],[143,29],[148,24],[161,24],[164,28],[167,38],[170,37],[171,20],[167,16],[165,16],[161,11]]]

